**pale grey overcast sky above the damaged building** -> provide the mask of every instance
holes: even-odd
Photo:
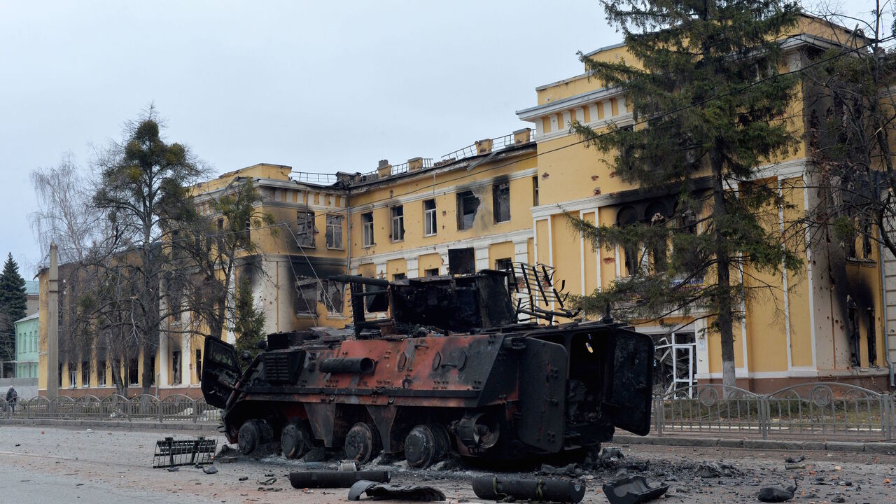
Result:
[[[151,102],[215,174],[369,171],[530,126],[535,87],[621,41],[596,0],[0,0],[0,254],[30,280],[29,173]]]

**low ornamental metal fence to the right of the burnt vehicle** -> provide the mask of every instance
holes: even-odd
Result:
[[[653,430],[773,438],[894,439],[896,396],[844,383],[805,383],[771,394],[694,385],[655,396]]]

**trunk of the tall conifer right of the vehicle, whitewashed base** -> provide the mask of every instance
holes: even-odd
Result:
[[[728,240],[722,234],[722,226],[728,209],[725,206],[725,186],[722,178],[724,161],[721,154],[714,149],[710,152],[712,164],[712,217],[715,222],[716,242],[716,324],[719,327],[719,338],[722,350],[722,385],[735,386],[735,362],[734,362],[734,329],[732,327],[733,315],[731,311],[731,270],[728,260]]]

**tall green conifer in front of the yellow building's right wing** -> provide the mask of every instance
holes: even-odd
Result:
[[[613,153],[618,177],[674,196],[676,210],[673,218],[655,215],[650,225],[595,227],[573,219],[602,247],[647,251],[630,278],[582,298],[582,308],[602,312],[614,302],[632,319],[676,310],[708,317],[721,338],[723,384],[733,386],[733,324],[750,296],[740,268],[774,272],[801,264],[782,247],[778,212],[786,203],[774,182],[757,180],[760,166],[797,143],[786,119],[797,79],[779,74],[787,67],[781,36],[796,25],[797,4],[602,4],[633,62],[580,58],[592,79],[623,91],[641,126],[598,132],[574,123],[573,130],[589,146]]]

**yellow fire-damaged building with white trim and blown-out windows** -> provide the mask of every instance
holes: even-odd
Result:
[[[806,65],[806,50],[830,44],[825,33],[839,28],[806,17],[799,29],[785,43],[790,70]],[[625,47],[586,56],[616,60],[625,56]],[[202,205],[235,179],[252,179],[263,195],[260,210],[275,218],[276,233],[252,230],[259,253],[241,258],[237,268],[237,276],[251,275],[266,331],[348,324],[347,292],[327,280],[332,274],[393,281],[542,263],[555,268],[556,284],[563,282],[565,291],[588,294],[638,267],[625,250],[592,247],[568,221],[570,215],[607,225],[648,222],[656,213],[682,217],[668,197],[645,195],[623,183],[599,152],[570,133],[573,120],[595,129],[633,124],[625,96],[599,87],[586,74],[540,86],[536,95],[530,107],[517,112],[532,129],[480,140],[441,161],[380,161],[370,171],[335,175],[258,164],[197,187]],[[795,121],[800,133],[811,112],[796,110],[795,116],[803,117]],[[808,152],[803,143],[788,159],[764,169],[763,179],[794,205],[780,213],[781,225],[818,203],[807,188],[813,186]],[[805,253],[804,271],[763,277],[779,288],[743,307],[745,321],[735,328],[737,385],[756,392],[815,380],[892,387],[896,258],[860,240],[845,246],[814,240]],[[250,263],[255,267],[243,267]],[[40,282],[43,307],[46,276]],[[40,311],[39,388],[46,390],[47,310]],[[178,327],[189,323],[188,316],[168,321]],[[662,389],[721,381],[719,336],[706,330],[699,313],[637,328],[654,335],[660,374],[668,376]],[[229,331],[225,338],[235,341]],[[92,357],[61,359],[60,393],[115,391],[108,378],[111,363],[87,353]],[[134,365],[142,366],[142,360]],[[163,331],[155,366],[159,395],[200,395],[202,338]],[[124,372],[134,377],[129,393],[138,394],[142,370]]]

